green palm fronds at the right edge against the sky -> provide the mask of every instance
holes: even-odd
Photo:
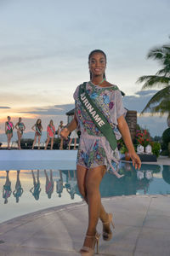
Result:
[[[146,88],[161,87],[150,101],[146,104],[141,113],[150,110],[153,113],[167,113],[167,123],[170,119],[170,44],[150,49],[148,59],[160,62],[162,68],[155,75],[139,77],[138,83],[144,82],[142,90]]]

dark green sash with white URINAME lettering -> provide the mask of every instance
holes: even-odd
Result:
[[[94,122],[94,125],[98,127],[99,131],[103,133],[110,143],[111,148],[115,150],[117,146],[115,133],[108,120],[105,118],[105,115],[101,113],[99,108],[96,107],[94,101],[90,96],[88,96],[86,91],[86,82],[80,85],[79,100],[82,103],[83,108],[88,112],[90,118]]]

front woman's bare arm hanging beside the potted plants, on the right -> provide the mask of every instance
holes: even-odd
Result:
[[[128,125],[126,120],[124,119],[123,116],[120,116],[117,119],[118,123],[118,129],[122,134],[123,141],[127,147],[128,154],[130,155],[130,158],[133,160],[133,166],[135,166],[135,169],[140,169],[141,167],[141,160],[139,159],[139,155],[136,154],[134,147],[133,147],[133,142],[132,138],[130,135],[130,131],[128,129]]]

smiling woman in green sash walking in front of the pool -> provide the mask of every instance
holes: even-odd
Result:
[[[95,243],[97,243],[98,249],[99,234],[96,231],[96,225],[99,218],[103,223],[103,239],[111,240],[112,213],[105,212],[105,208],[101,204],[99,183],[106,170],[113,172],[116,177],[121,177],[117,172],[119,154],[115,147],[116,143],[113,140],[109,142],[109,138],[106,138],[107,131],[104,136],[103,132],[99,130],[106,123],[101,114],[99,114],[101,118],[97,115],[98,110],[105,115],[110,124],[111,136],[119,139],[122,134],[133,160],[133,166],[135,168],[141,166],[139,156],[133,148],[127,122],[124,119],[126,110],[122,106],[121,92],[116,85],[110,84],[105,78],[105,53],[99,49],[92,51],[88,56],[88,67],[90,81],[85,83],[85,88],[84,85],[79,85],[74,94],[76,109],[74,119],[60,133],[61,136],[67,137],[71,131],[77,128],[77,125],[81,131],[77,154],[77,184],[84,200],[88,203],[88,230],[80,250],[84,256],[94,255]],[[88,98],[84,98],[84,95]],[[96,105],[95,111],[90,101]],[[94,125],[94,117],[98,126]]]

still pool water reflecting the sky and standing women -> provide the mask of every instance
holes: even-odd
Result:
[[[106,173],[100,184],[102,197],[170,194],[170,166],[142,165],[140,171],[121,163],[120,179]],[[0,223],[10,218],[82,201],[75,170],[0,171]]]

